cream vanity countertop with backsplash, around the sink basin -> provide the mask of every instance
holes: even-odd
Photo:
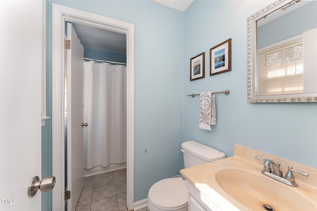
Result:
[[[287,172],[288,166],[292,166],[293,169],[297,169],[300,171],[305,171],[309,173],[309,177],[305,177],[303,175],[294,173],[296,177],[296,182],[298,183],[299,187],[291,187],[286,184],[283,184],[279,181],[276,181],[274,179],[271,179],[261,173],[263,170],[263,161],[255,159],[255,156],[260,156],[264,159],[268,158],[273,160],[275,163],[281,163],[280,169],[283,172],[283,175],[285,175],[285,172]],[[233,172],[232,175],[229,174],[229,177],[227,179],[230,179],[230,182],[226,182],[226,178],[219,178],[217,176],[217,172],[220,172],[221,170],[225,169],[232,169],[229,172]],[[234,149],[234,156],[217,160],[211,163],[182,169],[180,173],[185,176],[186,180],[190,182],[195,188],[197,188],[200,191],[201,197],[203,196],[204,200],[208,200],[210,204],[212,204],[212,210],[219,210],[219,211],[227,211],[227,210],[243,210],[243,211],[264,211],[264,209],[259,206],[257,203],[257,197],[254,197],[255,205],[252,207],[252,202],[248,201],[246,202],[248,204],[248,207],[244,206],[243,203],[240,203],[239,200],[237,201],[232,196],[230,196],[227,192],[223,190],[223,187],[225,186],[232,186],[232,184],[241,183],[239,180],[235,180],[236,176],[235,171],[237,172],[246,172],[248,175],[254,175],[254,178],[260,178],[261,181],[263,180],[265,183],[267,183],[267,186],[269,188],[266,191],[266,194],[269,195],[275,195],[269,203],[274,204],[276,207],[276,210],[285,210],[286,204],[285,201],[288,200],[288,198],[285,197],[285,195],[289,195],[289,201],[292,202],[295,207],[301,206],[301,210],[312,210],[317,208],[317,169],[308,167],[302,164],[298,164],[283,158],[279,158],[267,153],[263,153],[248,147],[235,145]],[[240,170],[240,171],[239,171]],[[242,171],[243,170],[243,171]],[[243,174],[241,174],[242,177],[244,177]],[[246,175],[246,177],[248,176]],[[253,178],[253,179],[254,179]],[[218,180],[222,180],[222,187],[219,185]],[[252,179],[252,178],[251,178]],[[256,179],[254,179],[256,180]],[[248,179],[244,180],[248,181]],[[259,182],[261,182],[259,181]],[[262,182],[263,182],[262,181]],[[253,182],[252,187],[254,187],[254,184],[257,181]],[[248,183],[248,182],[245,182]],[[237,185],[237,187],[240,187]],[[244,185],[243,187],[247,187],[247,185]],[[254,194],[254,191],[252,190],[252,187],[250,187],[250,190],[248,191],[242,191],[237,190],[236,192],[241,192],[241,194],[249,194],[251,196]],[[232,189],[232,187],[230,187]],[[295,189],[294,189],[295,188]],[[261,185],[260,185],[261,189]],[[262,190],[260,190],[261,192]],[[292,193],[295,193],[295,195],[292,195]],[[303,203],[298,200],[296,202],[295,198],[291,198],[294,196],[301,196],[304,197],[302,199],[309,200],[309,203]],[[238,196],[239,198],[239,196]],[[275,200],[276,198],[276,200]],[[281,199],[279,202],[278,199]],[[243,201],[243,200],[242,200]],[[251,200],[252,201],[252,200]],[[258,200],[259,201],[259,200]],[[274,201],[274,202],[272,202]],[[260,203],[260,202],[259,202]],[[296,204],[297,203],[297,204]],[[279,205],[281,204],[281,205]],[[261,208],[261,209],[260,209]],[[277,209],[278,208],[278,209]]]

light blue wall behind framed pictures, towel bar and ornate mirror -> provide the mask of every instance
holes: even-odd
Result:
[[[247,102],[247,17],[267,0],[195,0],[185,13],[185,94],[230,89],[216,95],[216,125],[198,128],[199,98],[186,97],[184,141],[195,139],[233,155],[241,144],[317,167],[317,104]],[[232,39],[232,71],[209,76],[209,49]],[[190,58],[206,52],[205,79],[190,82]],[[282,164],[283,165],[283,164]]]

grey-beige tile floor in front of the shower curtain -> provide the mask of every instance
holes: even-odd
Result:
[[[127,211],[126,185],[126,169],[85,177],[76,211]]]

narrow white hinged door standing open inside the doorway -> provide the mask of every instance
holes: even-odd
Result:
[[[75,211],[84,185],[84,47],[70,23],[67,23],[67,189],[71,198],[67,210]]]

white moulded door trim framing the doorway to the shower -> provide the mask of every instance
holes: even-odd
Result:
[[[65,21],[126,34],[127,37],[127,208],[134,209],[134,24],[52,3],[52,210],[65,208],[64,34]]]

